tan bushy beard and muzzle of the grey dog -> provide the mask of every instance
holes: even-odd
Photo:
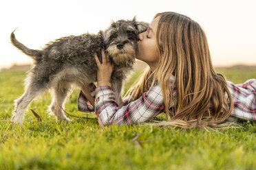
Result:
[[[109,45],[107,52],[116,64],[131,64],[135,62],[136,50],[133,45],[127,43],[122,49],[118,49],[116,44]]]

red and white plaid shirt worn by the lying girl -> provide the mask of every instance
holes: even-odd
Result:
[[[170,85],[173,88],[173,102],[171,107],[177,101],[177,88],[173,85],[174,77],[170,78]],[[228,89],[233,96],[234,109],[232,117],[244,120],[256,121],[256,80],[248,80],[244,84],[233,84],[227,82]],[[92,95],[96,86],[93,84],[91,88]],[[109,86],[98,86],[95,89],[95,113],[98,117],[100,125],[110,124],[135,124],[149,121],[161,112],[164,112],[164,99],[161,88],[158,84],[154,84],[147,93],[144,93],[136,101],[118,108],[115,101],[114,91]],[[127,97],[128,98],[128,97]],[[124,102],[127,101],[127,98]],[[89,108],[89,101],[83,93],[78,97],[78,110],[82,112],[92,112],[94,108]],[[88,109],[89,108],[89,109]],[[170,110],[171,113],[171,110]]]

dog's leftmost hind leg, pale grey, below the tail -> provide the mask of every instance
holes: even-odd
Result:
[[[43,93],[43,88],[36,88],[29,85],[25,93],[23,93],[19,99],[15,100],[15,108],[12,111],[12,122],[22,125],[26,108],[28,108],[31,101],[41,93]]]

